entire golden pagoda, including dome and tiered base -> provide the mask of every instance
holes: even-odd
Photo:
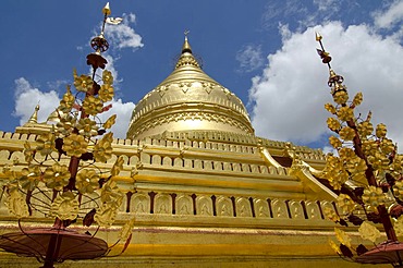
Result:
[[[35,114],[15,133],[0,132],[0,172],[26,167],[24,143],[50,131]],[[319,179],[323,154],[255,136],[241,99],[202,70],[187,37],[175,69],[136,105],[127,138],[113,141],[113,156],[100,169],[120,156],[124,202],[117,224],[98,233],[112,244],[134,216],[127,249],[58,267],[359,266],[328,246],[334,223],[323,211],[337,209],[337,195]],[[24,224],[49,221],[34,211]],[[19,229],[4,198],[0,227],[0,234]],[[0,267],[38,264],[4,253]]]

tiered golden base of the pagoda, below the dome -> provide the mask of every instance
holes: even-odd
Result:
[[[21,150],[25,141],[36,137],[0,132],[0,168],[13,162],[26,167]],[[290,146],[291,157],[323,167],[320,151]],[[108,261],[114,267],[172,267],[172,261],[175,267],[307,267],[306,261],[346,267],[349,263],[326,246],[333,223],[321,211],[334,209],[332,198],[316,193],[301,172],[294,176],[291,167],[268,160],[288,156],[284,150],[290,146],[220,131],[115,139],[111,160],[100,168],[111,169],[122,156],[125,160],[118,183],[127,194],[117,227],[101,229],[99,235],[113,243],[119,226],[134,216],[133,240],[119,259],[65,261],[61,267],[105,267]],[[29,222],[40,226],[46,219],[34,215]],[[81,224],[74,228],[80,230]],[[2,203],[0,227],[16,228]],[[24,261],[0,255],[1,267],[29,267]]]

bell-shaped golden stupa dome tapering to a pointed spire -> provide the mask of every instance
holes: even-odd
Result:
[[[202,70],[185,37],[174,71],[136,105],[127,138],[194,130],[254,134],[241,99]]]

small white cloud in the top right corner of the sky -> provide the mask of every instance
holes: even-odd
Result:
[[[395,0],[386,11],[374,13],[375,26],[390,28],[403,20],[403,2]]]

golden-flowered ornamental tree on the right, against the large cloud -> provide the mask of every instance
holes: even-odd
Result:
[[[402,267],[403,246],[398,235],[403,234],[403,156],[387,137],[384,124],[374,126],[371,112],[366,118],[356,112],[363,94],[349,97],[343,77],[331,69],[331,57],[321,39],[317,34],[316,40],[320,44],[317,51],[329,68],[328,86],[334,101],[325,105],[331,113],[327,124],[333,135],[329,142],[338,153],[327,156],[322,176],[339,195],[337,212],[328,209],[325,214],[341,226],[359,226],[361,236],[374,244],[381,236],[376,226],[381,224],[388,239],[368,251],[363,244],[353,246],[347,233],[335,228],[339,243],[330,241],[330,245],[339,255],[357,263]]]

